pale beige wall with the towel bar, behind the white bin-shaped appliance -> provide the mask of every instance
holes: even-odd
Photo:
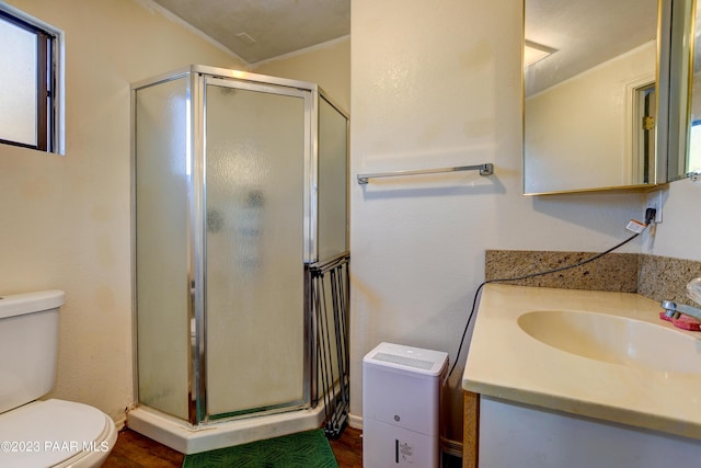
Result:
[[[353,421],[363,356],[381,341],[451,363],[485,249],[601,251],[642,216],[639,194],[521,195],[522,12],[508,0],[352,3],[352,176],[493,162],[494,175],[352,183]],[[392,18],[392,21],[387,21]],[[641,242],[624,251],[640,251]],[[461,434],[464,352],[446,435]]]

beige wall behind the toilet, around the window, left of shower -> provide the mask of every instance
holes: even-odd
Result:
[[[129,83],[242,64],[133,1],[9,3],[66,34],[66,156],[0,147],[1,292],[66,292],[53,396],[119,421],[133,401]]]

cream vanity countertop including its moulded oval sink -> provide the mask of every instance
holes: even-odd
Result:
[[[660,310],[637,294],[487,284],[462,388],[698,448],[701,332],[659,320]]]

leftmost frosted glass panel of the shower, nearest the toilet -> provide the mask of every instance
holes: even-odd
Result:
[[[187,79],[136,91],[139,402],[187,419]]]

